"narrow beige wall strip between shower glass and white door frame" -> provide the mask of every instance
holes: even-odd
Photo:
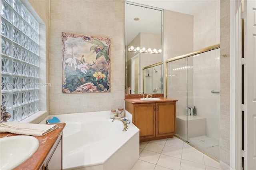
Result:
[[[220,160],[230,165],[230,2],[220,0]]]

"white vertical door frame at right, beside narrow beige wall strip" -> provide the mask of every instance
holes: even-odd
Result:
[[[230,1],[230,168],[242,169],[241,0]]]

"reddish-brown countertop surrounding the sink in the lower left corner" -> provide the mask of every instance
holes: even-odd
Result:
[[[44,136],[34,136],[39,140],[39,147],[38,150],[25,162],[14,168],[14,170],[35,170],[42,168],[42,164],[46,159],[46,156],[50,152],[52,146],[58,139],[58,136],[62,135],[62,130],[65,127],[66,123],[55,123],[58,127],[45,134]],[[7,137],[7,136],[17,136],[21,134],[12,134],[12,133],[0,133],[0,138]]]

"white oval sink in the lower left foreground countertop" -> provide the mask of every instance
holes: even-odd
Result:
[[[0,138],[0,169],[9,170],[30,158],[39,147],[33,136],[8,136]]]

